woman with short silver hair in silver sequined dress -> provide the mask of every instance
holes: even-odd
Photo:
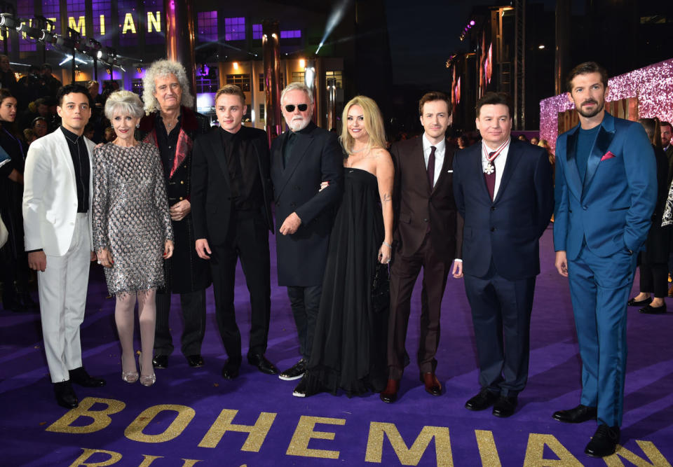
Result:
[[[173,232],[159,153],[134,137],[143,115],[140,97],[117,91],[105,103],[116,139],[93,153],[93,244],[116,295],[114,321],[121,342],[122,379],[156,381],[152,366],[156,288],[164,285],[163,259],[173,253]],[[133,309],[138,301],[140,375],[133,352]],[[145,371],[144,371],[145,370]]]

